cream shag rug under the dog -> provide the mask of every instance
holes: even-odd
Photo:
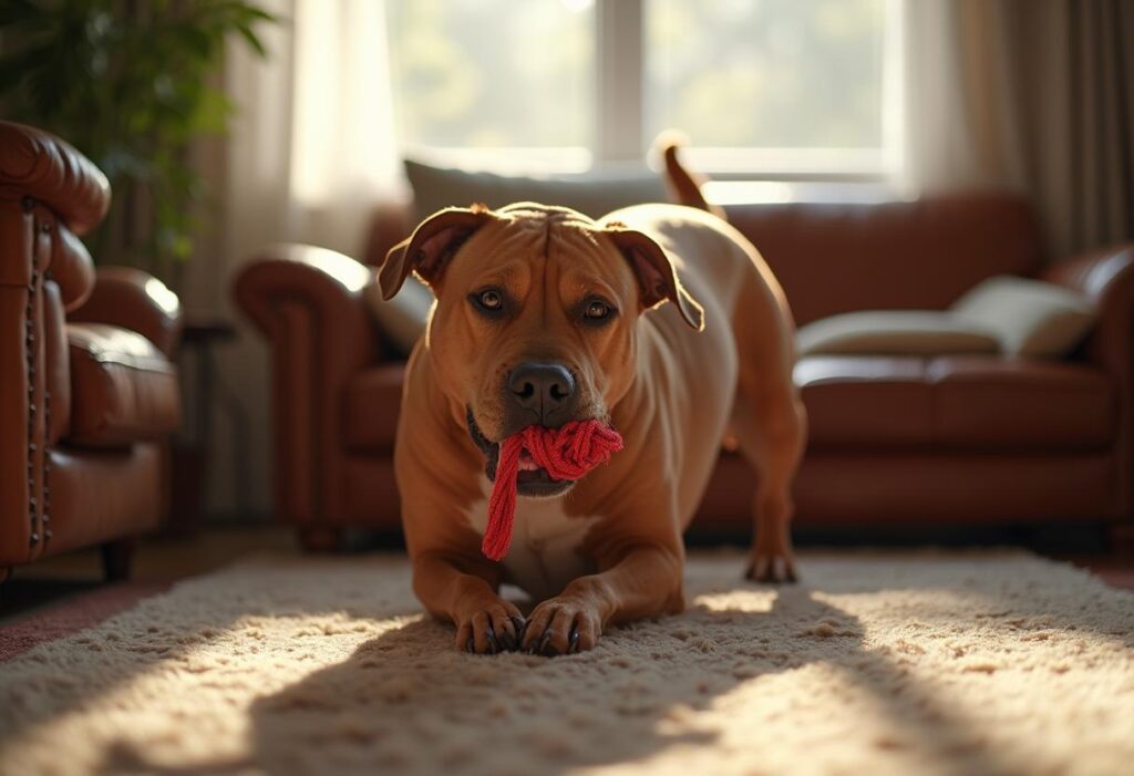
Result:
[[[0,664],[0,770],[1134,773],[1134,595],[1023,554],[742,568],[547,659],[456,653],[400,558],[253,558]]]

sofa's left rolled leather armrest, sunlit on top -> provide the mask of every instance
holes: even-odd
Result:
[[[342,398],[382,358],[362,299],[371,270],[304,245],[265,248],[236,279],[237,305],[272,355],[273,479],[280,520],[333,525],[341,502]]]

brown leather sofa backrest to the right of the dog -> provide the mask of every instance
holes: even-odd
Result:
[[[730,205],[797,325],[858,309],[941,309],[997,274],[1035,274],[1040,234],[1008,194],[880,204]]]

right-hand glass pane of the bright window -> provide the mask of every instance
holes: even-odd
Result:
[[[886,0],[645,0],[645,130],[880,148]]]

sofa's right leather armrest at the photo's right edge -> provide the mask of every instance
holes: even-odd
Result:
[[[1124,392],[1134,370],[1134,244],[1094,250],[1048,267],[1041,280],[1094,302],[1098,323],[1086,342],[1092,361],[1116,375]]]

